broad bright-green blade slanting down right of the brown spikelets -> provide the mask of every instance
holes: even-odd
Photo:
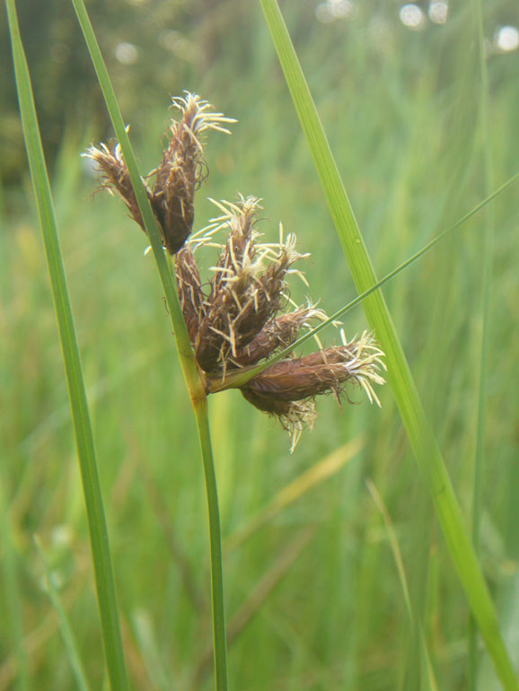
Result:
[[[261,5],[356,289],[363,293],[376,283],[374,268],[277,1],[261,0]],[[465,529],[462,511],[435,435],[418,397],[391,314],[380,291],[367,297],[363,305],[366,317],[386,354],[388,381],[393,396],[406,426],[421,475],[433,497],[447,547],[488,652],[494,661],[497,675],[507,691],[518,691],[519,683],[515,669],[506,652],[487,583],[481,573],[471,538]]]

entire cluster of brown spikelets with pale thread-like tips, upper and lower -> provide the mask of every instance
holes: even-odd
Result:
[[[310,301],[292,304],[295,309],[287,311],[288,276],[303,277],[294,265],[308,255],[296,251],[295,235],[284,238],[281,226],[277,243],[260,242],[260,205],[255,197],[240,197],[235,204],[215,202],[220,215],[203,231],[191,234],[195,191],[207,177],[200,135],[207,129],[227,132],[224,125],[233,120],[213,113],[196,95],[174,99],[173,105],[180,118],[172,119],[163,160],[145,179],[145,188],[163,246],[175,258],[180,305],[199,370],[208,393],[238,386],[253,406],[277,415],[294,448],[303,429],[312,427],[316,396],[333,393],[339,401],[347,383],[353,383],[379,404],[373,385],[384,381],[383,352],[366,332],[349,342],[341,332],[341,346],[320,347],[302,357],[288,354],[245,383],[233,383],[233,375],[268,363],[292,346],[302,329],[327,316]],[[144,230],[119,144],[101,144],[86,155],[101,170],[103,186],[123,198]],[[222,230],[226,240],[219,244],[216,237]],[[215,247],[216,266],[204,280],[196,255]]]

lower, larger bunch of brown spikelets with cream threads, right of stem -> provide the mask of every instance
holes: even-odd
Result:
[[[308,255],[295,249],[295,235],[277,243],[260,242],[255,197],[241,197],[235,204],[216,203],[223,212],[205,232],[193,235],[176,256],[175,271],[180,304],[189,337],[207,389],[221,390],[233,374],[268,362],[272,355],[291,346],[301,329],[327,319],[312,302],[286,311],[287,277],[301,275],[295,262]],[[216,232],[228,231],[217,245]],[[215,245],[220,253],[208,284],[204,284],[195,252]],[[365,332],[342,346],[272,363],[245,384],[242,395],[253,406],[276,415],[290,433],[292,448],[305,427],[316,417],[316,396],[333,393],[339,400],[347,384],[365,390],[370,402],[380,406],[374,384],[383,384],[383,352],[371,334]]]

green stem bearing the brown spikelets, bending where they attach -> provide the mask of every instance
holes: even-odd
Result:
[[[168,265],[163,250],[157,222],[150,203],[145,194],[145,187],[141,179],[136,157],[133,153],[122,118],[119,104],[110,82],[108,70],[102,59],[101,49],[92,29],[88,13],[83,0],[72,0],[75,13],[80,22],[81,29],[92,64],[96,71],[101,91],[110,113],[110,119],[119,141],[128,172],[136,194],[137,204],[145,223],[145,229],[150,240],[155,263],[163,284],[163,290],[172,319],[173,333],[179,353],[179,360],[184,379],[189,391],[189,397],[193,406],[198,425],[200,449],[204,463],[206,479],[207,501],[209,511],[209,538],[211,547],[211,593],[213,611],[213,632],[215,647],[215,676],[217,691],[226,691],[227,688],[227,658],[225,646],[225,619],[224,619],[224,582],[222,569],[222,544],[220,534],[220,518],[218,512],[218,496],[216,488],[216,476],[213,454],[210,443],[209,422],[207,418],[207,394],[204,383],[200,378],[197,363],[189,340],[188,329],[180,309],[179,297],[172,280],[172,271]]]

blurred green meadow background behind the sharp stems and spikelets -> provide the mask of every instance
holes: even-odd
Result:
[[[378,276],[518,170],[519,19],[513,0],[483,5],[488,91],[477,3],[282,3]],[[132,687],[209,689],[206,497],[163,293],[152,258],[143,255],[145,235],[119,202],[93,196],[97,181],[80,157],[110,137],[110,127],[72,7],[21,3],[19,11],[91,404]],[[304,267],[312,299],[329,313],[353,299],[260,5],[119,0],[110,9],[92,4],[92,22],[141,170],[160,157],[170,97],[198,92],[239,122],[232,136],[209,136],[210,174],[198,192],[196,226],[215,215],[208,196],[262,197],[265,236],[276,241],[282,221],[296,233],[298,249],[312,254]],[[84,499],[9,69],[1,88],[0,691],[75,688],[33,536],[95,689],[104,669]],[[516,665],[518,222],[515,187],[384,288],[469,518],[485,224],[494,229],[481,564]],[[306,293],[296,280],[294,293]],[[361,308],[347,315],[344,328],[350,336],[366,328]],[[339,333],[325,331],[321,340],[337,342]],[[341,410],[332,398],[319,400],[315,428],[292,455],[279,424],[238,392],[210,400],[232,689],[418,689],[419,656],[390,533],[368,485],[391,517],[438,687],[467,687],[467,603],[391,391],[379,393],[382,409],[363,400]],[[352,398],[362,399],[356,391]],[[296,480],[292,494],[279,494]],[[13,573],[18,588],[10,586]],[[11,645],[16,625],[24,670]],[[479,684],[498,688],[484,654]]]

